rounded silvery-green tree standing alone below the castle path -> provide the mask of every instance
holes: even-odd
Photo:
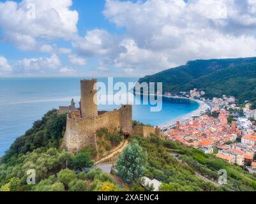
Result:
[[[146,171],[146,161],[146,153],[137,140],[133,140],[117,160],[118,174],[128,184],[137,183]]]

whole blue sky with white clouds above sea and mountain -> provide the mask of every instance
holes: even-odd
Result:
[[[143,77],[256,56],[256,0],[0,0],[0,77]]]

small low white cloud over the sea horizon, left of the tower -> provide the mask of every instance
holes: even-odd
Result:
[[[51,57],[38,57],[18,61],[15,64],[15,70],[19,73],[45,73],[57,71],[60,66],[59,57],[56,54],[52,54]]]

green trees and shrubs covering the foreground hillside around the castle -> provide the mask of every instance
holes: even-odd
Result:
[[[13,143],[0,164],[0,191],[124,191],[117,184],[116,176],[93,169],[88,173],[81,171],[93,163],[91,156],[94,149],[87,149],[73,155],[66,150],[60,150],[64,122],[56,111],[47,113],[41,121],[41,126],[33,126],[33,131],[22,136]],[[58,121],[58,122],[57,122]],[[51,124],[49,124],[51,123]],[[52,132],[49,127],[55,127]],[[37,129],[37,130],[36,130]],[[31,135],[44,131],[45,137],[38,140],[33,147]],[[54,133],[54,134],[53,134]],[[49,136],[51,135],[51,136]],[[107,129],[98,131],[98,136],[109,138]],[[57,141],[59,138],[59,141]],[[185,147],[184,145],[162,140],[151,135],[149,138],[133,136],[131,144],[123,151],[117,160],[117,175],[130,184],[132,191],[144,191],[139,185],[141,177],[157,179],[163,182],[161,191],[255,191],[256,175],[245,169],[228,164],[214,155]],[[19,147],[19,143],[29,144],[27,151]],[[14,151],[15,150],[15,151]],[[12,154],[10,154],[12,152]],[[27,170],[36,171],[36,185],[27,185]],[[206,182],[201,177],[218,181],[219,170],[227,170],[227,185],[217,186],[214,182]],[[201,177],[199,177],[199,175]],[[149,187],[151,189],[151,187]]]

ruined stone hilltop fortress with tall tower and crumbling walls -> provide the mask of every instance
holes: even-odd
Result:
[[[132,105],[122,105],[119,110],[112,112],[98,111],[95,99],[97,91],[94,90],[96,79],[81,80],[80,107],[76,108],[72,99],[70,106],[59,106],[58,113],[67,114],[66,132],[62,148],[70,152],[78,152],[86,147],[93,146],[97,149],[96,131],[102,128],[114,133],[122,131],[124,138],[135,134],[149,136],[151,133],[160,135],[159,128],[140,127],[132,125]]]

